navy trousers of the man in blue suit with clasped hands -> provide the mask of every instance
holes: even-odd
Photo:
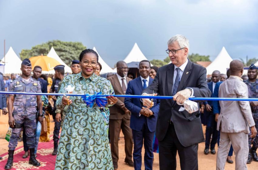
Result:
[[[143,116],[143,115],[141,115]],[[153,160],[153,149],[152,142],[154,138],[155,132],[150,132],[148,128],[148,124],[145,117],[145,122],[141,131],[133,131],[133,139],[134,139],[134,169],[141,169],[141,149],[144,144],[144,166],[145,170],[152,170],[152,160]]]

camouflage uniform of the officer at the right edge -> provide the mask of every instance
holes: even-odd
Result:
[[[249,98],[258,98],[258,79],[256,79],[254,83],[251,83],[248,79],[245,81],[245,83],[248,87]],[[258,131],[258,106],[255,106],[255,107],[251,106],[251,110],[252,110],[253,119],[255,122],[255,127],[256,127],[256,130]],[[251,149],[251,140],[252,140],[250,135],[251,135],[251,132],[248,135],[249,149]],[[253,146],[255,148],[258,148],[258,133],[256,134],[256,137],[253,140]]]

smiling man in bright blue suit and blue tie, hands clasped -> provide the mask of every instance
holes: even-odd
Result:
[[[127,95],[141,95],[143,89],[148,87],[153,81],[149,77],[151,63],[148,60],[142,60],[139,63],[140,77],[131,80],[126,90]],[[124,104],[131,111],[130,127],[134,139],[134,169],[141,170],[141,149],[144,142],[144,165],[146,170],[152,170],[153,149],[152,142],[154,138],[160,100],[153,100],[154,106],[151,109],[143,107],[140,99],[125,98]]]

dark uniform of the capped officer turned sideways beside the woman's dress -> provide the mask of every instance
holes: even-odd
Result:
[[[54,90],[55,93],[58,93],[59,91],[59,83],[61,82],[60,79],[55,79],[53,81],[53,84],[52,84],[52,91]],[[56,96],[56,98],[58,98],[59,96]],[[60,113],[59,110],[56,110],[56,100],[54,100],[54,109],[55,109],[55,113]],[[60,132],[60,127],[61,127],[61,122],[59,121],[56,121],[56,114],[53,114],[53,119],[54,119],[54,122],[55,122],[55,127],[54,127],[54,131],[53,131],[53,141],[54,142],[58,142],[59,141],[59,132]]]

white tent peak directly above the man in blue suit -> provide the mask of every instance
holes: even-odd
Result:
[[[140,62],[141,60],[148,60],[148,59],[144,56],[144,54],[141,52],[141,49],[138,47],[137,43],[135,42],[130,53],[125,57],[124,62],[126,63],[131,63],[132,61]]]

